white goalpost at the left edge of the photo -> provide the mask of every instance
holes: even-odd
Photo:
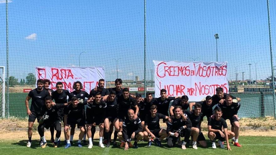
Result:
[[[0,66],[0,117],[5,118],[5,67]]]

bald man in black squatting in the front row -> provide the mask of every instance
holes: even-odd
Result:
[[[138,142],[143,139],[143,127],[139,117],[134,117],[134,111],[128,110],[128,117],[123,122],[123,131],[118,133],[118,137],[125,144],[125,150],[130,147],[130,141],[135,140],[134,148],[138,148]]]

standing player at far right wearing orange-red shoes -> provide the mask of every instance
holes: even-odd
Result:
[[[234,102],[232,95],[226,95],[226,99],[223,102],[223,104],[219,103],[215,107],[215,109],[220,108],[222,110],[222,118],[224,120],[230,120],[231,131],[235,133],[235,138],[232,139],[232,141],[234,141],[234,145],[237,147],[241,147],[241,145],[238,142],[240,123],[237,115],[240,107],[241,104],[239,102]]]

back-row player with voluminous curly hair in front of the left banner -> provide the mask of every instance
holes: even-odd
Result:
[[[85,101],[85,98],[90,99],[89,98],[89,94],[86,91],[82,90],[82,83],[80,81],[76,81],[73,84],[73,90],[70,94],[69,94],[69,98],[68,101],[72,100],[72,97],[77,97],[77,99],[82,99],[83,101]],[[84,110],[85,106],[83,105],[83,110]],[[76,128],[76,124],[72,124],[71,126],[71,130],[70,130],[70,142],[72,144],[73,142],[73,138],[74,138],[74,134],[75,134],[75,128]],[[86,128],[84,128],[85,132],[83,135],[83,144],[86,144]]]

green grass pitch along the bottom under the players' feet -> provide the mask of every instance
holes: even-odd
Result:
[[[74,141],[76,143],[76,141]],[[190,146],[186,150],[182,150],[180,147],[167,148],[167,145],[164,144],[164,147],[151,146],[151,148],[146,147],[146,142],[140,142],[138,144],[139,148],[134,149],[130,148],[128,151],[124,151],[123,148],[100,148],[98,147],[98,141],[94,142],[92,149],[88,149],[87,146],[78,148],[73,146],[68,149],[64,149],[64,145],[61,145],[58,148],[53,148],[53,145],[48,143],[47,147],[42,149],[38,147],[38,141],[33,140],[31,148],[26,147],[26,141],[0,141],[0,150],[1,154],[275,154],[276,150],[276,141],[275,137],[256,137],[256,136],[243,136],[240,137],[239,142],[242,147],[235,147],[230,144],[232,151],[226,149],[212,149],[209,140],[207,140],[208,148],[199,147],[198,150],[194,150]],[[255,145],[256,144],[256,145]],[[261,146],[260,146],[261,144]],[[269,145],[265,145],[269,144]],[[273,145],[271,145],[273,144]]]

